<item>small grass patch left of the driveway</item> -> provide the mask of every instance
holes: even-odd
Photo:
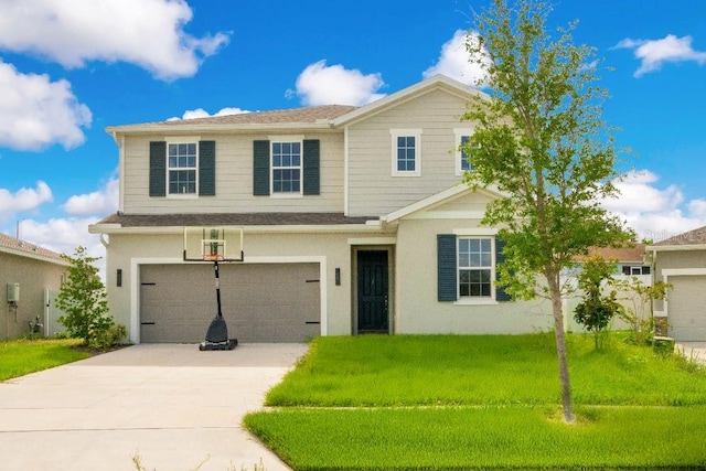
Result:
[[[0,342],[0,382],[87,358],[89,353],[74,349],[82,342],[81,339]]]

